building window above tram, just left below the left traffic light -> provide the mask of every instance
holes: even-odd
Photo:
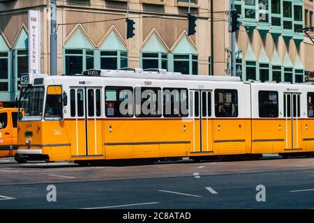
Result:
[[[128,53],[124,51],[100,51],[100,68],[117,70],[128,67]]]

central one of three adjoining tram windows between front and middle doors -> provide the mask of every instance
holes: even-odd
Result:
[[[135,116],[144,118],[161,117],[161,89],[135,88]]]

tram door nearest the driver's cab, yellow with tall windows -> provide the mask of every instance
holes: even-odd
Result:
[[[76,103],[77,155],[103,155],[101,89],[96,87],[76,89]]]

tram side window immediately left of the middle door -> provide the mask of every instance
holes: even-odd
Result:
[[[188,89],[163,89],[163,116],[188,116]]]

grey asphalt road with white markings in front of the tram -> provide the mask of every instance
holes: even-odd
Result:
[[[124,167],[1,158],[0,208],[308,209],[314,208],[314,158]]]

